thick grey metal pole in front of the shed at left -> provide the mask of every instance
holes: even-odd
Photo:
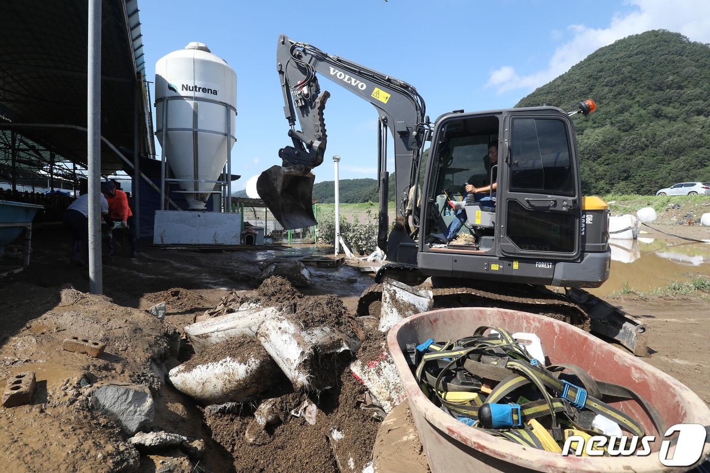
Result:
[[[89,293],[103,293],[101,261],[101,3],[89,0],[87,163],[89,165]]]

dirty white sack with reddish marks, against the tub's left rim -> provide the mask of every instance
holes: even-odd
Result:
[[[350,364],[350,371],[370,391],[385,413],[390,413],[405,400],[404,386],[392,355],[386,349],[376,359],[356,359]]]

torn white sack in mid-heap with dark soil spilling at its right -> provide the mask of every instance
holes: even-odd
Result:
[[[304,330],[284,316],[261,324],[257,337],[296,389],[324,391],[334,385],[334,355],[356,352],[359,342],[329,327]]]

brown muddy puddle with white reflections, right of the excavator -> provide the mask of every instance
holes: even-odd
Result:
[[[691,274],[710,274],[710,243],[682,239],[639,237],[637,240],[609,240],[611,274],[601,288],[588,289],[608,295],[625,284],[638,291],[650,291],[673,281],[685,281]]]

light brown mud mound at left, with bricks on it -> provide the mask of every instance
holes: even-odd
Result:
[[[10,310],[13,317],[29,322],[0,347],[0,383],[19,372],[33,371],[37,384],[31,401],[0,409],[5,471],[35,472],[53,465],[61,465],[63,471],[138,471],[156,455],[177,462],[167,451],[143,453],[128,442],[130,435],[120,415],[97,401],[97,392],[107,386],[143,393],[142,430],[180,433],[190,441],[204,437],[200,411],[161,382],[176,338],[172,328],[105,296],[35,288],[32,300],[22,305],[14,291],[12,287],[0,290],[0,300],[17,308]],[[64,340],[73,336],[106,344],[106,349],[95,358],[62,349]],[[209,436],[204,440],[215,457],[226,455]],[[179,452],[175,455],[191,467],[200,461]],[[201,464],[219,471],[212,460]]]

